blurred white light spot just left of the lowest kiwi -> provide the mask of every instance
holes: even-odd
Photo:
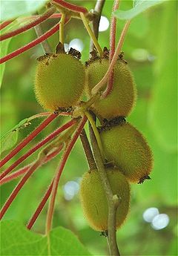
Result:
[[[65,199],[72,200],[74,195],[77,194],[79,191],[79,184],[73,180],[68,181],[63,187],[63,190],[65,194]]]

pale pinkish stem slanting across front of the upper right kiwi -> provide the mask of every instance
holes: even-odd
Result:
[[[91,91],[92,94],[96,94],[108,82],[108,78],[109,78],[109,76],[110,76],[110,74],[111,74],[111,72],[114,68],[114,65],[117,62],[117,59],[118,59],[119,53],[121,51],[122,45],[124,43],[125,35],[128,31],[128,27],[129,27],[130,23],[131,23],[131,21],[127,21],[125,23],[125,26],[122,30],[118,45],[116,47],[116,51],[113,55],[113,59],[112,59],[111,64],[108,68],[108,71],[105,73],[105,76],[102,78],[102,80],[97,85],[95,85],[95,87],[92,89],[92,91]]]

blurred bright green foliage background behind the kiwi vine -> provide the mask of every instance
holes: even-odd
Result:
[[[88,7],[89,10],[95,4],[95,1],[73,2]],[[108,19],[111,17],[112,4],[113,1],[106,1],[102,13]],[[122,1],[121,10],[128,10],[131,6],[132,1]],[[132,186],[130,215],[122,229],[117,232],[121,255],[177,255],[176,18],[177,1],[165,1],[164,4],[157,5],[136,16],[131,22],[123,47],[125,59],[133,71],[138,90],[136,107],[127,120],[145,135],[151,145],[154,152],[154,170],[151,173],[152,180],[145,181],[143,185]],[[42,27],[47,30],[55,22],[50,19],[42,24]],[[123,24],[123,21],[118,20],[116,40],[119,39]],[[10,41],[8,52],[10,53],[34,38],[33,30],[25,33],[25,36],[22,34],[14,37]],[[88,59],[90,39],[82,22],[77,19],[72,19],[65,27],[65,42],[69,43],[74,38],[81,39],[84,44],[82,62],[85,62]],[[58,40],[58,33],[48,39],[53,50]],[[109,30],[99,33],[99,43],[102,47],[109,47]],[[42,47],[38,45],[7,62],[1,87],[1,133],[10,130],[24,118],[43,112],[33,92],[36,58],[42,54]],[[27,148],[41,140],[65,120],[66,118],[58,118]],[[39,120],[34,120],[27,130],[20,130],[19,140],[35,128],[38,122]],[[27,148],[14,159],[27,151]],[[25,163],[34,159],[35,156],[32,156]],[[22,188],[4,219],[27,223],[50,183],[59,159],[60,156],[36,171]],[[78,141],[70,154],[60,180],[53,226],[60,225],[72,230],[93,255],[107,255],[105,237],[94,232],[86,223],[78,194],[72,200],[65,200],[64,197],[64,186],[67,181],[79,180],[87,170],[85,155]],[[7,199],[16,183],[17,180],[14,180],[2,187],[1,204]],[[160,213],[168,214],[170,222],[165,229],[155,230],[150,223],[143,220],[142,214],[149,207],[156,207]],[[44,233],[46,213],[47,207],[36,221],[34,231]]]

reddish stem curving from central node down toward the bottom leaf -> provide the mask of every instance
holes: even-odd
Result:
[[[68,145],[65,149],[65,153],[62,157],[62,161],[60,163],[59,170],[57,171],[57,173],[54,177],[53,189],[52,189],[52,194],[51,194],[51,197],[50,197],[50,204],[49,204],[49,208],[48,208],[48,211],[47,211],[47,221],[46,221],[46,233],[47,234],[50,232],[50,228],[51,228],[51,225],[52,225],[53,209],[54,209],[54,203],[55,203],[55,199],[56,199],[56,192],[57,192],[57,188],[58,188],[58,184],[59,184],[59,179],[60,179],[62,171],[65,167],[65,163],[67,161],[67,158],[70,155],[70,151],[72,150],[73,145],[75,144],[77,138],[81,134],[82,129],[84,128],[84,125],[85,125],[86,122],[87,122],[87,117],[83,116],[81,122],[79,123],[78,128],[76,129],[75,134],[73,135],[72,140],[70,140],[70,142],[68,143]]]

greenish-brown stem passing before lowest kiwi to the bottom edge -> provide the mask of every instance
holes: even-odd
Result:
[[[119,249],[116,243],[116,209],[118,207],[119,198],[116,195],[113,195],[113,192],[111,190],[107,173],[105,171],[105,166],[102,162],[102,156],[99,151],[99,146],[92,129],[90,130],[90,137],[96,167],[99,171],[99,176],[101,178],[102,186],[105,190],[108,202],[108,245],[110,249],[110,255],[119,256]]]

